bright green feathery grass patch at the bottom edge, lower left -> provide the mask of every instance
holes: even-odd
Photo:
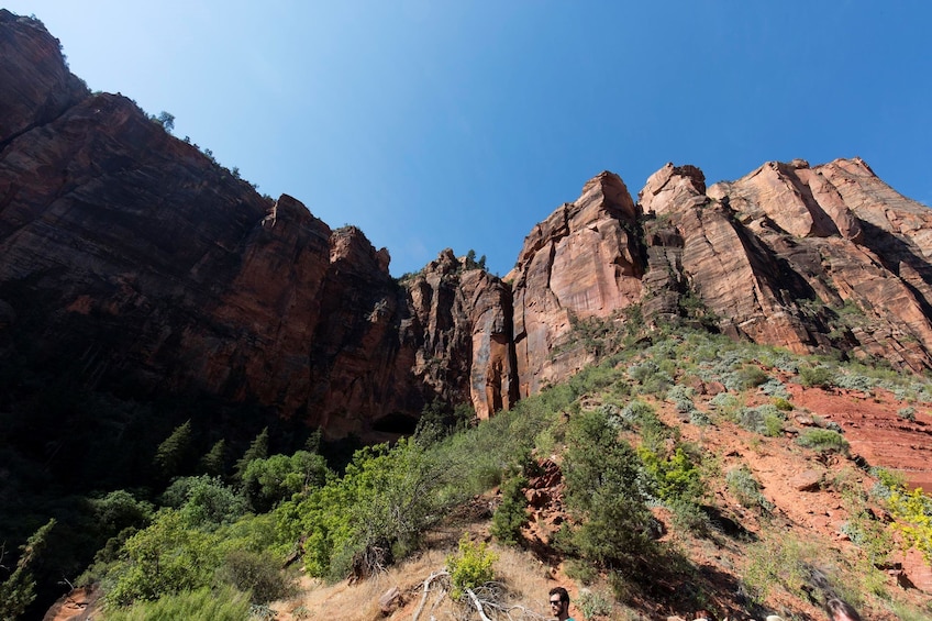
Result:
[[[155,601],[140,601],[129,608],[110,607],[107,621],[243,621],[249,616],[249,597],[222,586],[201,587],[166,595]]]

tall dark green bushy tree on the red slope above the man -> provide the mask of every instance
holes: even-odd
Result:
[[[598,412],[570,419],[567,445],[566,506],[577,525],[565,545],[606,567],[630,565],[651,552],[652,515],[634,450]]]

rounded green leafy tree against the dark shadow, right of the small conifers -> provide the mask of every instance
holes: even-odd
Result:
[[[273,455],[248,463],[243,491],[254,510],[265,512],[296,494],[324,485],[326,462],[320,455],[298,451],[290,457]]]

